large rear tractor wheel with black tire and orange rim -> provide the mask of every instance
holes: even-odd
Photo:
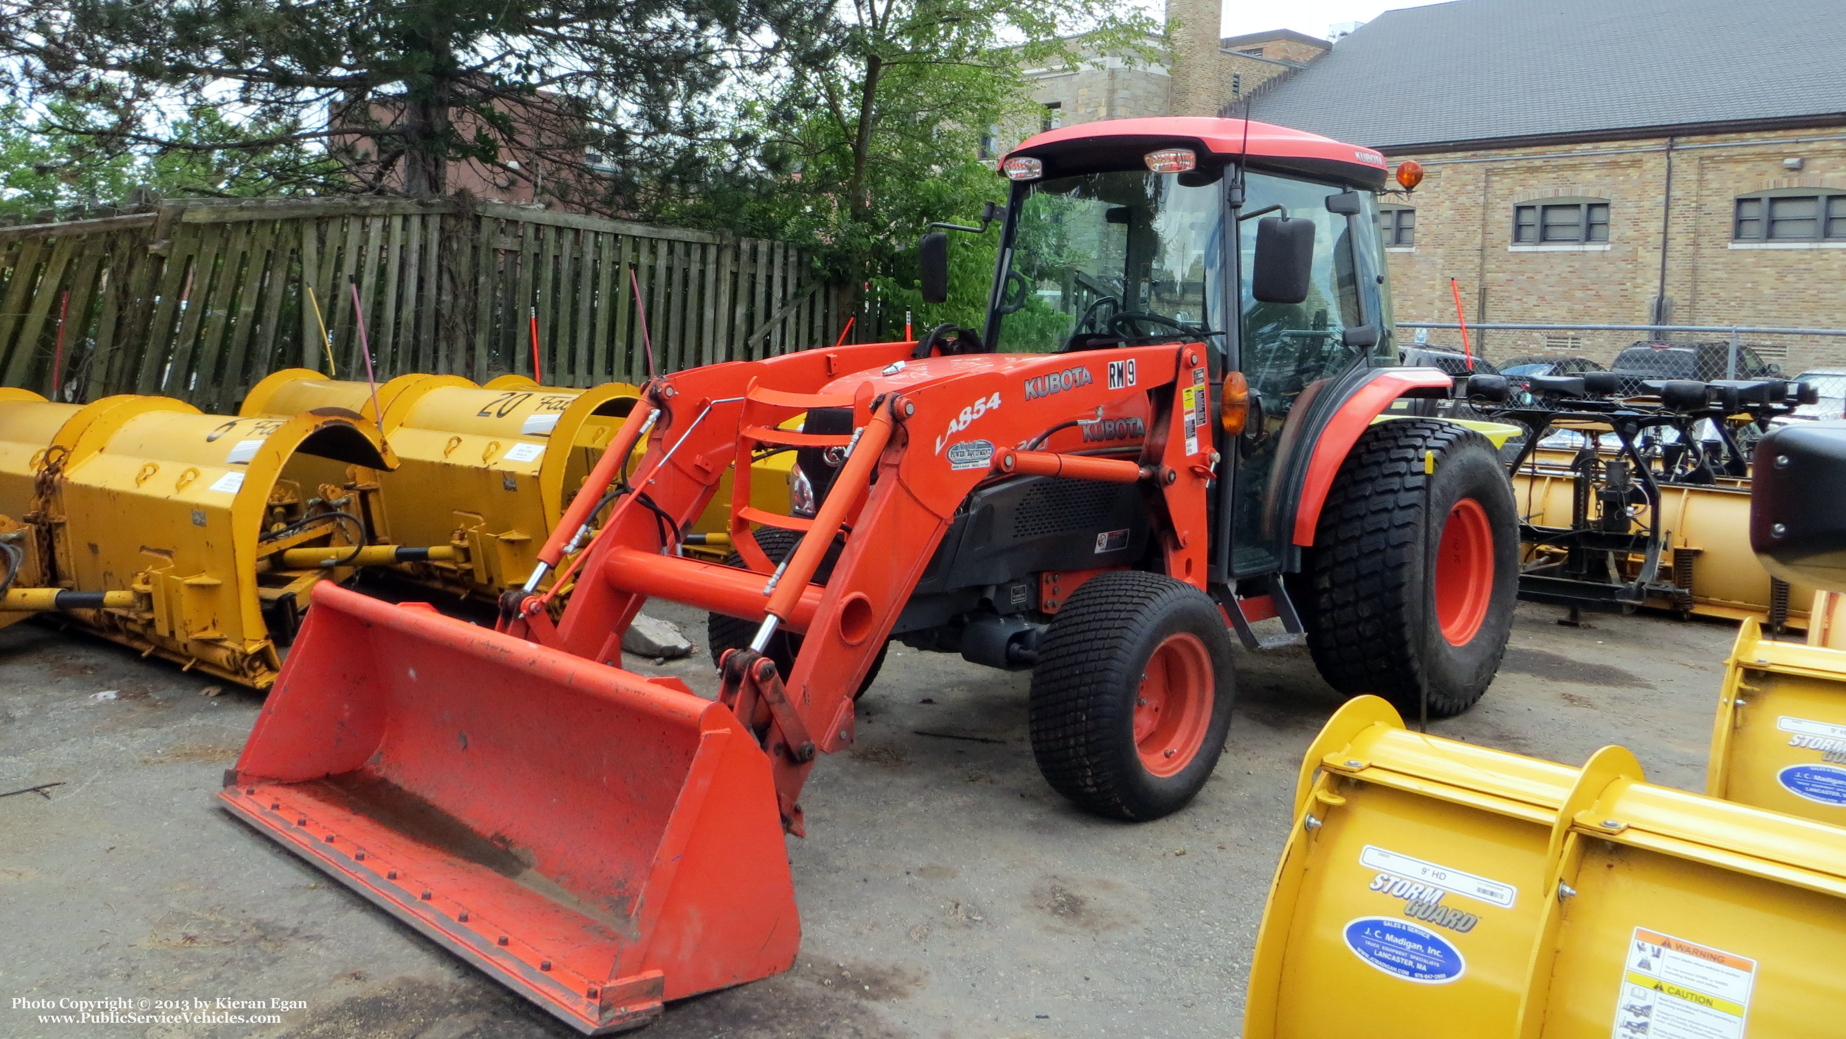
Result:
[[[1425,471],[1434,467],[1432,474]],[[1300,602],[1327,683],[1418,718],[1480,699],[1519,592],[1519,515],[1493,443],[1394,419],[1353,445],[1320,509]]]

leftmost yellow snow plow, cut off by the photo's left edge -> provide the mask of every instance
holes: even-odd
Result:
[[[306,484],[286,474],[312,458]],[[87,631],[266,688],[308,591],[378,557],[351,469],[397,460],[360,415],[205,415],[166,397],[55,404],[0,391],[0,624],[59,611]]]

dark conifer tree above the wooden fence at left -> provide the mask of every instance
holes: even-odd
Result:
[[[607,209],[711,133],[711,94],[768,57],[764,22],[796,24],[797,6],[0,0],[0,68],[28,122],[103,157],[205,155],[273,190],[412,197],[476,162]],[[587,153],[618,175],[591,175]]]

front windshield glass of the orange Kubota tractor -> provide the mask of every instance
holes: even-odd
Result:
[[[1222,181],[1204,170],[1026,186],[995,349],[1222,336]]]

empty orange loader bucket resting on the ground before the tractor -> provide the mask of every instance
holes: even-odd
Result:
[[[321,583],[225,805],[578,1030],[788,969],[770,762],[683,685]]]

